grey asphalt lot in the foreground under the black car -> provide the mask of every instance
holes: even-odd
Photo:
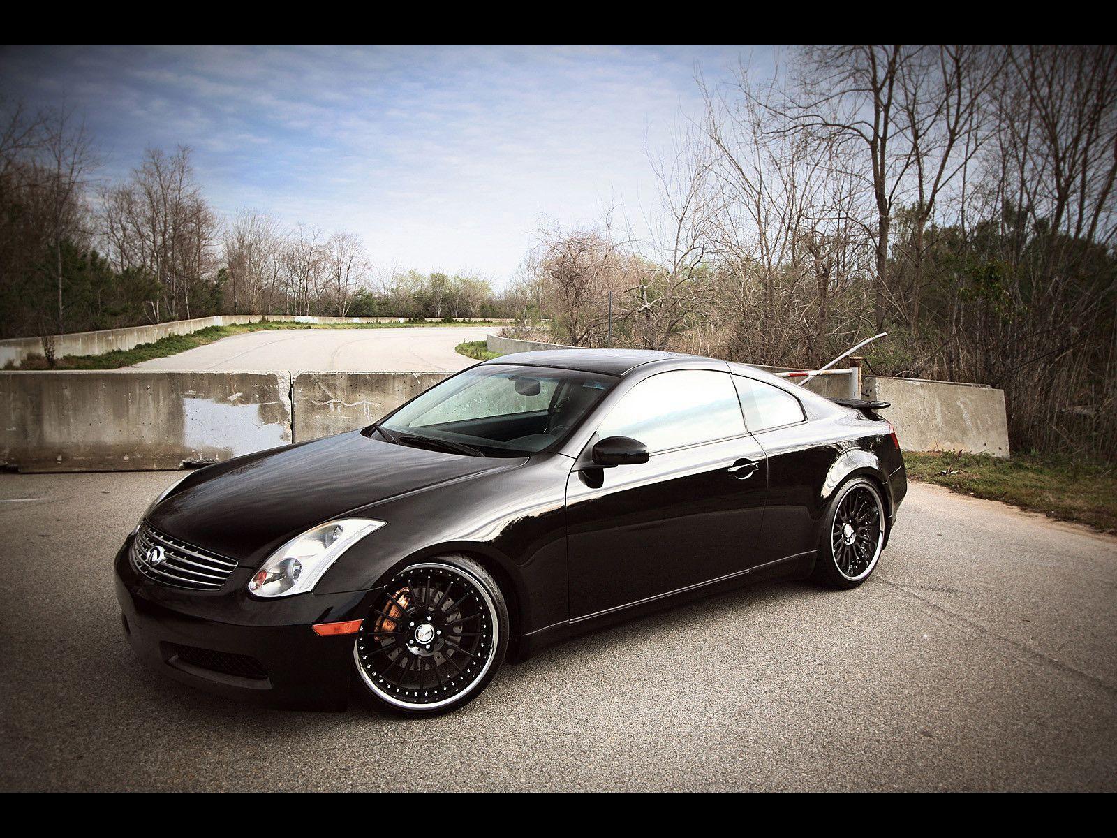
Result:
[[[916,485],[856,591],[677,608],[404,722],[133,660],[111,556],[175,476],[0,475],[0,789],[1117,789],[1114,539]]]

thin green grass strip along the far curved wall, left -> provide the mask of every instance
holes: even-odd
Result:
[[[438,328],[441,326],[495,326],[493,322],[481,323],[294,323],[292,321],[261,321],[259,323],[238,323],[229,326],[207,326],[197,332],[184,335],[171,335],[154,343],[141,343],[130,350],[113,350],[101,355],[66,355],[55,362],[56,370],[116,370],[121,366],[131,366],[141,361],[151,361],[155,358],[168,358],[176,355],[187,350],[198,349],[208,343],[220,341],[222,337],[232,337],[248,332],[268,332],[285,328],[400,328],[402,326],[414,328]],[[484,342],[481,342],[484,346]],[[42,355],[31,355],[19,366],[7,366],[16,370],[48,370],[47,360]]]

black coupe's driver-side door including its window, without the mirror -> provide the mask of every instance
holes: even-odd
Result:
[[[647,463],[579,468],[566,486],[571,617],[738,573],[760,549],[764,450],[744,427],[732,378],[672,370],[638,382],[586,450],[626,436]]]

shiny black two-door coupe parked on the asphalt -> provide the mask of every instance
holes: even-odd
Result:
[[[124,631],[225,695],[442,713],[649,609],[863,582],[907,491],[882,407],[709,358],[504,355],[367,428],[189,473],[116,555]]]

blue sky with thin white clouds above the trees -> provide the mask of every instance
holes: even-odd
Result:
[[[648,152],[697,115],[695,73],[766,47],[6,47],[0,89],[83,115],[120,177],[191,146],[221,213],[345,229],[380,265],[503,286],[544,218],[655,212]]]

